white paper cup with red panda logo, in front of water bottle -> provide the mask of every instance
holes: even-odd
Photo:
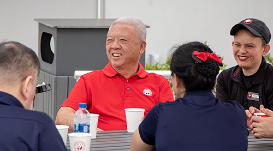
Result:
[[[71,151],[89,151],[91,144],[91,133],[69,133]]]

